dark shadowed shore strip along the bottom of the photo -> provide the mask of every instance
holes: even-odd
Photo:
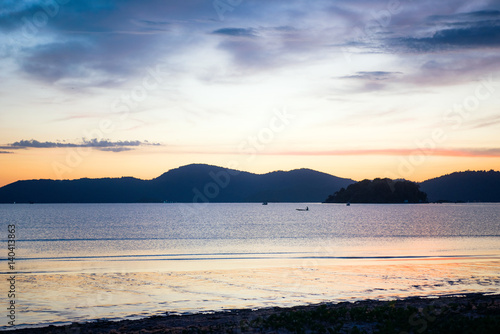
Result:
[[[10,333],[498,333],[500,295],[366,300],[293,308],[165,315]]]

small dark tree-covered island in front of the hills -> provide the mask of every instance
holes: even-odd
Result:
[[[423,203],[427,194],[419,190],[420,185],[406,180],[376,178],[363,180],[341,188],[328,196],[325,203]]]

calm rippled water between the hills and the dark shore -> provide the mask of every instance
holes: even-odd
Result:
[[[20,327],[500,292],[500,204],[0,205],[0,222]]]

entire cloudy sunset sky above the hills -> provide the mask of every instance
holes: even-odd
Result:
[[[4,0],[0,186],[500,170],[500,1]]]

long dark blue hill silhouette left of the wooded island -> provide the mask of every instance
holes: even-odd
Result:
[[[321,202],[353,182],[310,169],[253,174],[191,164],[152,180],[17,181],[0,188],[0,203]]]

